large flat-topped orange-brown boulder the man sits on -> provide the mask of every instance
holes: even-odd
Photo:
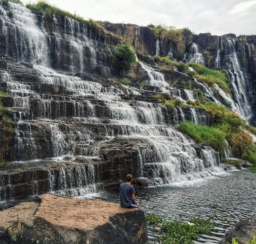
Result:
[[[141,210],[46,194],[0,212],[0,244],[145,244]]]

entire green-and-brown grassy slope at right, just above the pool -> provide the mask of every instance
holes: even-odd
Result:
[[[256,162],[253,139],[250,133],[244,130],[245,120],[214,102],[206,102],[200,107],[212,114],[212,127],[184,121],[179,126],[181,131],[192,137],[195,142],[209,144],[220,152],[224,152],[224,140],[227,140],[234,155],[248,159],[251,163]]]

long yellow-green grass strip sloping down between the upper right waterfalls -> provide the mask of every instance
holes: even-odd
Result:
[[[164,63],[164,66],[160,66],[160,68],[171,70],[172,66],[175,65],[180,72],[188,74],[194,78],[203,80],[204,83],[206,83],[209,87],[212,87],[214,90],[216,90],[214,85],[216,83],[222,90],[224,90],[225,93],[231,94],[231,90],[229,89],[231,80],[228,80],[228,72],[225,70],[212,70],[206,68],[204,65],[200,65],[197,63],[178,63],[169,59],[168,56],[163,58],[154,56],[154,59],[155,62],[159,63],[160,65],[161,62]],[[189,71],[188,67],[193,68],[195,71]]]

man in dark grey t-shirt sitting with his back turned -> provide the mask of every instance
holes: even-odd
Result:
[[[132,175],[126,176],[126,183],[122,183],[119,187],[120,191],[120,205],[124,208],[139,208],[135,200],[134,186],[131,185]]]

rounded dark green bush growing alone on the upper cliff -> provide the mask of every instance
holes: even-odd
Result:
[[[131,69],[131,64],[136,62],[134,52],[129,45],[121,44],[117,46],[114,53],[114,62],[117,68],[125,71]]]

